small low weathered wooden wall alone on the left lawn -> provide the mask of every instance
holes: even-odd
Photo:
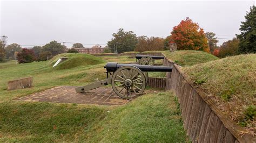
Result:
[[[8,90],[30,88],[33,84],[33,77],[21,78],[18,80],[8,81],[7,86]]]

